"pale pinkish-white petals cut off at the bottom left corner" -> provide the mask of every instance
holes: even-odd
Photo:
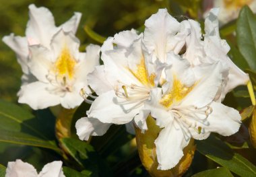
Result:
[[[16,160],[15,162],[8,162],[5,177],[65,177],[62,171],[62,162],[55,161],[46,164],[38,174],[34,166]]]

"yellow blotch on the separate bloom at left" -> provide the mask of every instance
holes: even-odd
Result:
[[[73,59],[69,49],[64,47],[55,63],[58,77],[69,77],[69,79],[72,79],[76,63],[77,62]]]

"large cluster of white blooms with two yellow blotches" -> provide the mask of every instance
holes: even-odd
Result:
[[[178,22],[160,9],[146,20],[143,33],[108,38],[101,48],[104,65],[88,75],[98,96],[82,92],[95,100],[88,117],[75,125],[79,138],[103,135],[111,124],[133,124],[144,132],[151,114],[162,128],[155,141],[158,169],[168,170],[181,160],[191,138],[236,133],[241,116],[221,102],[249,77],[228,57],[217,14],[218,9],[208,13],[201,34],[198,22]]]

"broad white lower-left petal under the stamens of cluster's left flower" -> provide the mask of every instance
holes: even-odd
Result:
[[[139,113],[141,106],[136,106],[136,104],[118,98],[111,90],[98,96],[87,114],[89,118],[98,118],[100,122],[121,125],[131,122],[133,117]]]

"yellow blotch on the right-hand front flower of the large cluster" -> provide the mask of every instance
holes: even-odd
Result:
[[[174,102],[179,102],[183,98],[185,98],[185,96],[187,96],[187,94],[189,94],[189,92],[193,90],[193,87],[194,85],[192,85],[191,87],[186,87],[183,83],[181,83],[181,81],[174,77],[174,81],[172,83],[172,90],[170,90],[168,94],[162,97],[162,99],[160,100],[160,104],[162,104],[166,108],[170,107]]]

